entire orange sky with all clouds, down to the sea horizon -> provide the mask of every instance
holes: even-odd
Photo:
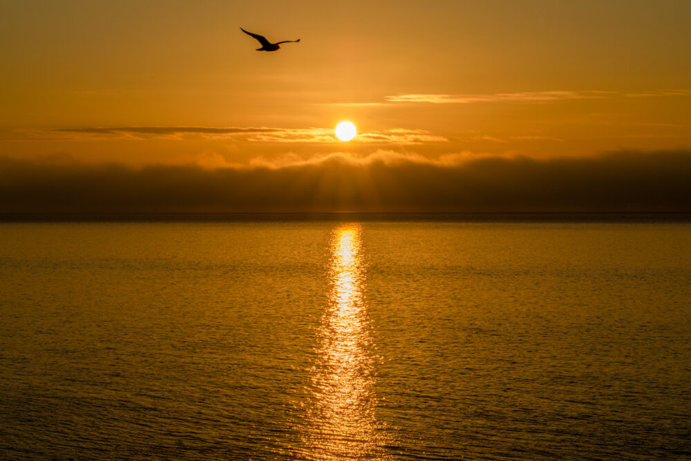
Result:
[[[691,211],[686,0],[0,17],[0,212]]]

